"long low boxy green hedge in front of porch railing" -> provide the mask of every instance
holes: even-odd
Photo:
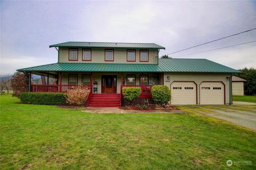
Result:
[[[23,92],[20,100],[35,105],[67,105],[65,94],[61,92]]]

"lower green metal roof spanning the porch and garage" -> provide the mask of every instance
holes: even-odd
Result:
[[[188,58],[161,58],[159,64],[54,63],[27,67],[17,71],[241,73],[210,60]]]

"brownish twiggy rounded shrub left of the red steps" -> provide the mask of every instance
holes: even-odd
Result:
[[[82,106],[86,104],[90,89],[84,86],[74,86],[66,94],[69,105]]]

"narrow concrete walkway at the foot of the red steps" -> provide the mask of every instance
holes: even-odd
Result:
[[[85,107],[83,112],[88,113],[185,113],[181,110],[136,111],[124,110],[119,107]]]

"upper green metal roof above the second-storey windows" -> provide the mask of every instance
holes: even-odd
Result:
[[[83,48],[147,48],[147,49],[165,49],[154,43],[99,43],[99,42],[74,42],[50,45],[51,47],[83,47]]]

